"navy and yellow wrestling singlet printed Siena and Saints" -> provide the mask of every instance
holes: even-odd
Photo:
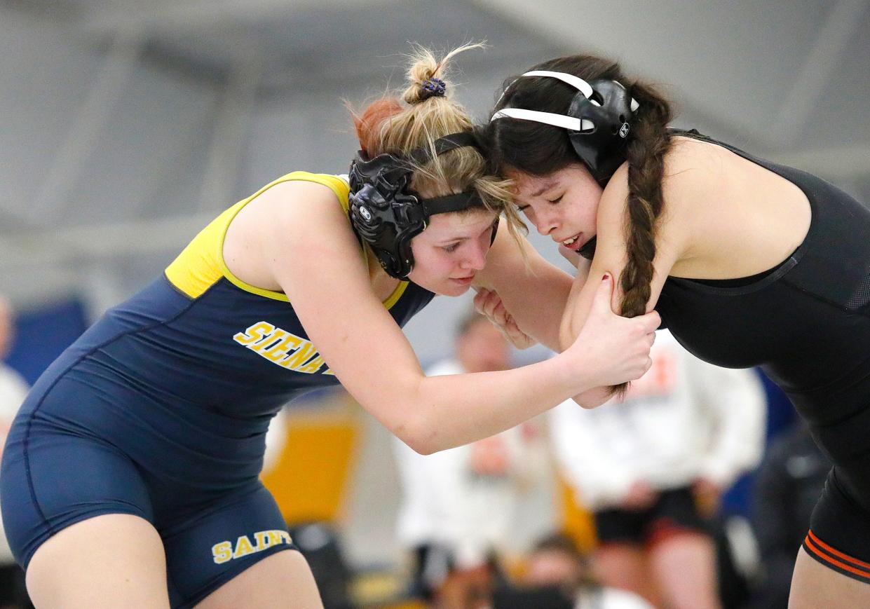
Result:
[[[232,218],[288,174],[224,211],[164,276],[105,313],[50,365],[3,452],[3,523],[20,565],[65,526],[107,513],[147,519],[166,549],[173,607],[292,547],[258,479],[271,417],[338,384],[282,293],[244,284],[222,256]],[[341,288],[336,286],[336,298]],[[385,301],[404,325],[432,293],[401,282]],[[300,492],[305,492],[300,489]]]

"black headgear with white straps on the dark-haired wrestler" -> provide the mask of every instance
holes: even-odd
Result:
[[[574,151],[592,172],[599,184],[607,184],[613,172],[626,160],[626,142],[631,122],[639,104],[626,88],[606,78],[591,83],[565,72],[532,70],[522,77],[558,78],[578,90],[567,114],[554,114],[522,108],[503,108],[492,115],[552,124],[568,130]]]

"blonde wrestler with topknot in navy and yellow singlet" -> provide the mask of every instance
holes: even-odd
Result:
[[[452,55],[422,53],[407,104],[381,100],[357,118],[350,189],[305,172],[265,186],[39,379],[10,433],[0,492],[37,607],[320,606],[258,481],[270,418],[305,390],[340,381],[391,432],[434,452],[646,370],[659,318],[612,315],[603,282],[584,345],[559,358],[420,371],[400,326],[432,292],[468,290],[504,192],[444,95]],[[514,244],[487,277],[499,287],[524,263],[519,242],[497,240]],[[528,256],[529,293],[552,296],[539,315],[559,315],[570,278]]]

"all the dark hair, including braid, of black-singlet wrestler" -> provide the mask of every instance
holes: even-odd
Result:
[[[626,146],[627,262],[619,278],[623,292],[619,314],[627,318],[643,315],[653,280],[656,219],[664,206],[661,182],[665,173],[665,156],[671,147],[671,137],[666,129],[672,119],[670,104],[652,86],[626,77],[619,64],[601,57],[559,57],[531,70],[565,72],[586,81],[596,78],[616,80],[639,102]],[[505,92],[493,114],[505,107],[566,114],[576,93],[577,90],[555,78],[512,77],[505,81]],[[533,176],[545,176],[579,162],[568,132],[560,127],[501,118],[483,126],[478,136],[487,149],[491,171],[499,175],[513,169]],[[627,386],[627,383],[617,385],[612,391],[621,395]]]

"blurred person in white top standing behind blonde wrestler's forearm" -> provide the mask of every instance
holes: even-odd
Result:
[[[472,313],[458,327],[456,357],[439,362],[426,373],[432,376],[509,367],[511,350],[501,332],[483,316]],[[463,597],[466,588],[487,580],[487,557],[510,539],[525,474],[524,433],[518,427],[426,456],[398,439],[394,447],[403,485],[397,534],[412,553],[412,593],[432,599],[450,574],[443,594]],[[449,601],[442,599],[445,603]]]

